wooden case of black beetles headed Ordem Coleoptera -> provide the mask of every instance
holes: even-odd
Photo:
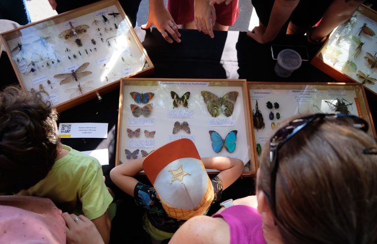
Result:
[[[248,91],[256,162],[274,130],[294,115],[348,113],[366,120],[370,125],[368,133],[376,137],[361,84],[248,82]]]

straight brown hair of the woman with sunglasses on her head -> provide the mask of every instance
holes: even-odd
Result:
[[[285,243],[377,240],[377,155],[362,152],[377,143],[335,121],[312,122],[279,149],[274,218]],[[269,167],[264,150],[257,185],[267,195]]]

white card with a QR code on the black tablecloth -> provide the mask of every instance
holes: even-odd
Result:
[[[108,138],[108,123],[60,123],[63,138]]]

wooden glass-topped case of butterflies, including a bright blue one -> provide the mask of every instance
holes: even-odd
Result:
[[[248,106],[245,80],[122,79],[115,164],[189,138],[201,157],[239,158],[255,174]]]

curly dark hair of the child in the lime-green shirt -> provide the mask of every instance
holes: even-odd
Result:
[[[17,193],[44,179],[59,143],[57,113],[40,92],[0,92],[0,192]]]

